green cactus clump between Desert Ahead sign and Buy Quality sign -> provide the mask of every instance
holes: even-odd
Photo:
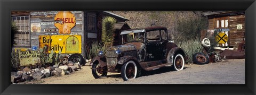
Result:
[[[50,54],[46,54],[47,46],[44,46],[43,48],[40,48],[40,59],[42,64],[51,64],[51,65],[59,65],[61,63],[61,60],[63,58],[63,55],[61,54],[61,51],[59,53],[55,53],[53,50]]]

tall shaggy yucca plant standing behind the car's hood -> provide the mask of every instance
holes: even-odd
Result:
[[[102,20],[102,36],[101,40],[105,48],[113,45],[114,42],[114,24],[116,19],[106,16]]]

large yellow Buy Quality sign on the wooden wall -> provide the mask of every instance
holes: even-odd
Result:
[[[81,35],[53,35],[39,36],[39,48],[47,46],[47,53],[51,50],[61,54],[82,53]]]

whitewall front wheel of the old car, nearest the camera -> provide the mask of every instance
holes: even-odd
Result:
[[[124,81],[135,79],[137,66],[134,61],[128,61],[121,68],[121,76]]]

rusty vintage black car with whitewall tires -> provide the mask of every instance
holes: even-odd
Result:
[[[149,27],[121,32],[122,45],[99,51],[90,63],[95,79],[108,72],[121,73],[124,81],[135,79],[141,71],[173,66],[180,71],[185,65],[185,53],[169,41],[165,27]]]

